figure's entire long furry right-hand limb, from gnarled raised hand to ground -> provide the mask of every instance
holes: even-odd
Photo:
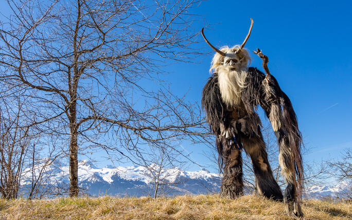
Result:
[[[284,201],[289,214],[300,217],[300,199],[303,193],[302,134],[298,130],[296,114],[288,96],[281,90],[277,80],[270,74],[268,57],[259,49],[254,51],[262,60],[266,75],[256,68],[249,68],[247,87],[242,99],[248,100],[247,111],[254,111],[260,105],[269,118],[279,145],[279,164],[287,188]]]

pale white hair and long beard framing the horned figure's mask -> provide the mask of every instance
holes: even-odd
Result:
[[[240,46],[235,45],[232,48],[224,46],[220,48],[221,51],[229,54],[233,54],[239,50]],[[240,62],[236,64],[236,70],[232,70],[231,66],[226,66],[224,64],[224,57],[221,54],[216,53],[212,60],[212,67],[210,67],[210,72],[218,73],[218,82],[220,94],[223,102],[227,107],[238,106],[241,101],[241,91],[245,85],[245,79],[248,74],[248,65],[251,63],[251,58],[247,50],[242,49],[236,55]]]

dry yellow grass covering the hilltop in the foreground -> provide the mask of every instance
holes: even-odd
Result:
[[[309,199],[305,219],[352,219],[352,203]],[[0,200],[0,219],[291,219],[282,203],[248,195],[175,198],[57,198]]]

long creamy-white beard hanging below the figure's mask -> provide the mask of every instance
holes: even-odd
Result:
[[[227,107],[238,106],[241,102],[241,91],[245,87],[245,70],[230,70],[229,67],[218,69],[218,82],[222,101]]]

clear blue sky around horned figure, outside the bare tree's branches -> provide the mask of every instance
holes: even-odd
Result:
[[[4,10],[0,2],[0,10]],[[308,162],[339,158],[352,147],[352,22],[349,1],[205,1],[191,12],[202,14],[196,30],[215,46],[240,44],[253,31],[246,48],[257,47],[269,57],[269,68],[290,97],[309,153]],[[204,18],[204,19],[203,19]],[[200,102],[214,53],[205,42],[201,52],[211,52],[194,63],[170,65],[165,78],[177,94]],[[251,66],[261,67],[252,54]],[[265,120],[265,119],[263,119]],[[206,166],[202,145],[188,145],[193,160]],[[82,158],[83,159],[83,158]],[[99,160],[104,164],[103,159]],[[198,170],[195,164],[190,170]],[[216,172],[215,168],[210,171]]]

